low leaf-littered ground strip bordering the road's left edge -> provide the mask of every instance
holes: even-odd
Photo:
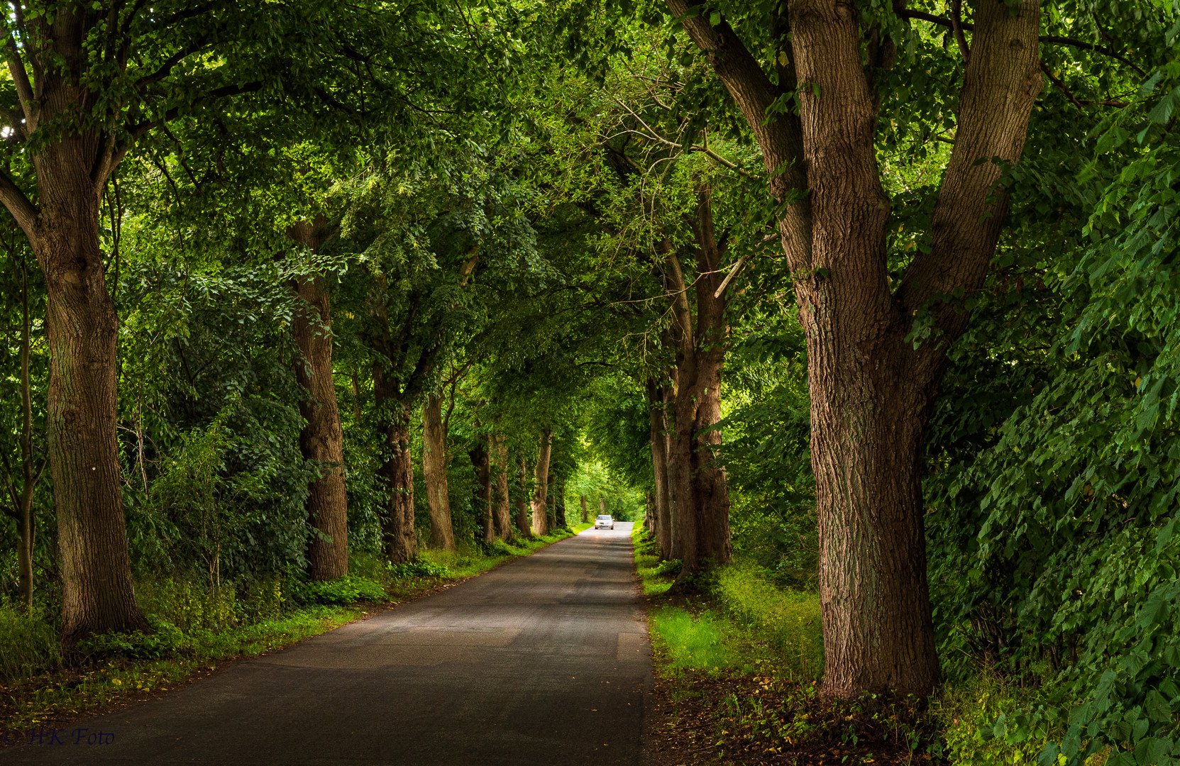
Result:
[[[572,528],[573,533],[590,524]],[[5,680],[0,676],[0,748],[20,744],[38,727],[61,727],[163,696],[212,675],[241,660],[270,654],[350,622],[369,620],[389,609],[442,592],[455,584],[531,555],[570,535],[557,532],[523,543],[516,552],[428,556],[445,574],[391,578],[386,598],[346,604],[309,604],[287,614],[223,630],[195,630],[183,650],[143,656],[144,644],[127,644],[122,656],[58,661],[52,667]],[[427,551],[430,555],[431,551]],[[15,642],[19,637],[4,636]],[[135,646],[132,646],[135,644]],[[6,647],[7,649],[7,647]]]

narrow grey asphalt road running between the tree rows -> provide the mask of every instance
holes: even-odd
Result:
[[[0,764],[637,765],[651,656],[630,528],[588,530]]]

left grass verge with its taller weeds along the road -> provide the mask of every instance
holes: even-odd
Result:
[[[52,623],[0,607],[0,732],[60,726],[157,696],[208,675],[218,663],[327,633],[569,536],[558,530],[500,542],[487,552],[427,550],[396,567],[360,556],[349,577],[291,594],[282,594],[277,583],[242,595],[229,588],[210,594],[188,582],[144,583],[142,601],[156,630],[96,636],[71,657],[63,657]],[[254,618],[232,624],[243,611]],[[18,741],[0,736],[0,747]]]

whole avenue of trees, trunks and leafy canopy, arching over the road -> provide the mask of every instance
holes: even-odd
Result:
[[[1038,692],[981,740],[1180,759],[1176,8],[5,25],[0,607],[68,648],[159,629],[139,584],[295,592],[584,504],[675,592],[818,595],[824,695],[986,668]]]

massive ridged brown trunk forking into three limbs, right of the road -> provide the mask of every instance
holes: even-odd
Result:
[[[674,14],[689,4],[669,0]],[[937,683],[920,486],[923,430],[946,367],[945,351],[968,316],[950,297],[979,288],[995,253],[1008,196],[1001,168],[1023,151],[1042,87],[1040,5],[976,8],[959,93],[955,146],[919,251],[890,293],[873,129],[877,99],[861,64],[851,6],[792,2],[792,71],[772,85],[723,20],[686,19],[754,129],[772,192],[784,203],[784,250],[807,336],[812,466],[820,538],[826,695]],[[766,120],[767,99],[795,89],[799,117]],[[784,77],[786,74],[787,77]],[[806,191],[807,194],[798,194]],[[938,334],[906,340],[914,316]],[[677,412],[678,417],[678,412]]]

